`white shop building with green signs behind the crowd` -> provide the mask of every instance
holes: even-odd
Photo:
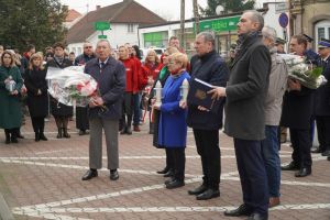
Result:
[[[265,25],[272,26],[276,30],[278,37],[286,38],[285,32],[288,29],[283,29],[279,25],[278,18],[280,13],[286,13],[286,8],[279,7],[280,2],[264,3],[258,11],[263,14]],[[237,23],[242,13],[230,13],[207,19],[200,19],[200,31],[212,30],[217,33],[217,48],[220,52],[229,50],[230,44],[237,41]],[[186,20],[185,22],[185,48],[186,51],[194,51],[195,29],[194,20]],[[170,36],[180,35],[180,22],[173,21],[161,25],[143,25],[139,28],[139,38],[141,47],[158,46],[166,47]],[[287,33],[287,35],[289,35]]]

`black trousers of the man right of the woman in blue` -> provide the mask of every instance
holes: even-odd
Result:
[[[197,153],[201,157],[204,185],[219,189],[221,160],[219,148],[219,130],[194,129]]]

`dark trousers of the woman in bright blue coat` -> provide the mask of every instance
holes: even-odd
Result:
[[[168,153],[169,161],[173,162],[174,178],[180,182],[185,180],[185,147],[167,147],[166,153]]]

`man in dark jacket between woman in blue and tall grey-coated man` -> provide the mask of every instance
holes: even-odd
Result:
[[[207,81],[213,86],[226,86],[228,68],[224,61],[215,50],[215,34],[201,32],[196,36],[197,55],[191,57],[191,77]],[[202,184],[189,190],[197,200],[206,200],[220,196],[220,148],[219,129],[222,127],[223,100],[211,110],[190,105],[188,100],[187,123],[193,128],[197,152],[201,158]]]

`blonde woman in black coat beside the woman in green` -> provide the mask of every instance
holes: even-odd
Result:
[[[25,70],[25,87],[28,89],[28,107],[32,120],[35,141],[47,141],[44,135],[45,118],[48,113],[48,95],[46,69],[43,66],[43,56],[40,53],[33,54],[29,67]]]

